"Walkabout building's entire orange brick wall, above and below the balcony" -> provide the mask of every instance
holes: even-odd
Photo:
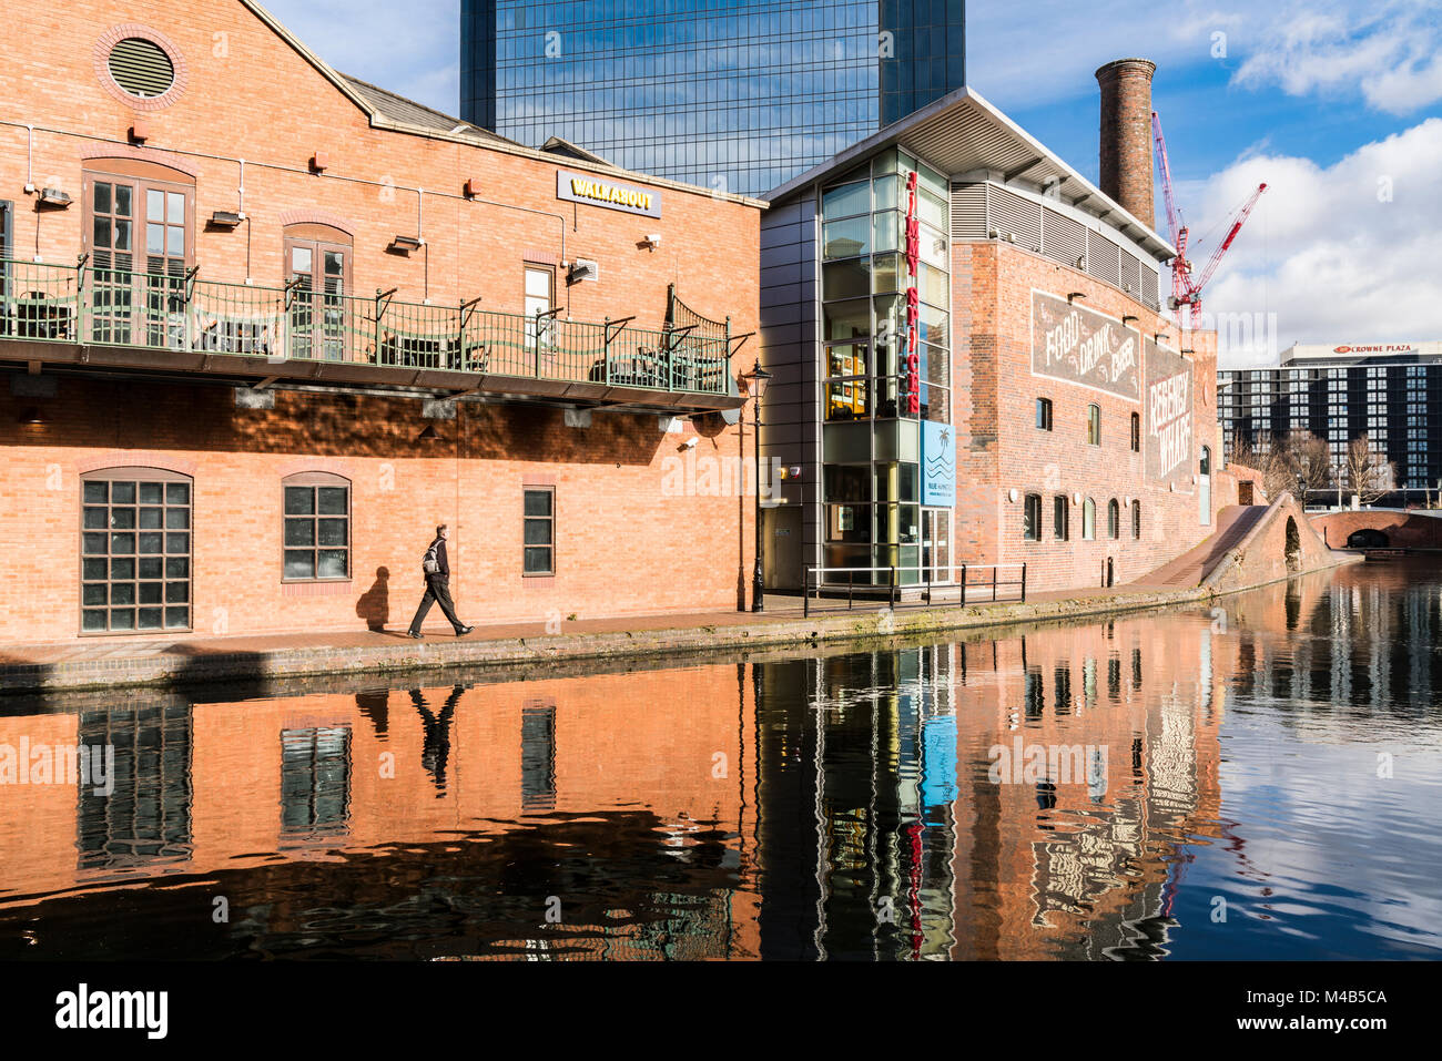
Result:
[[[125,23],[157,30],[179,50],[185,89],[174,102],[133,108],[97,75],[99,42]],[[353,235],[356,293],[398,288],[398,300],[446,306],[482,296],[485,310],[519,311],[523,261],[583,257],[598,261],[598,283],[567,290],[562,270],[557,283],[558,301],[577,320],[636,314],[639,327],[659,327],[675,283],[698,313],[731,316],[735,333],[757,327],[757,208],[676,186],[656,186],[660,219],[564,203],[557,170],[585,172],[583,163],[372,128],[235,0],[30,12],[25,48],[0,66],[0,118],[36,127],[27,160],[26,130],[0,125],[0,199],[16,203],[19,258],[76,259],[82,172],[114,156],[195,174],[192,247],[203,280],[281,285],[286,222],[320,215]],[[146,148],[125,143],[137,117],[150,125]],[[327,156],[322,176],[307,169],[317,151]],[[242,157],[249,223],[205,231],[212,212],[239,208]],[[36,212],[23,192],[30,173],[76,202]],[[460,197],[469,179],[479,179],[483,199],[525,209]],[[424,229],[420,196],[407,187],[434,190],[424,196]],[[386,252],[395,235],[418,231],[427,251]],[[652,232],[662,234],[660,247],[640,247]],[[43,427],[19,425],[29,407],[42,409]],[[200,633],[363,629],[358,608],[378,600],[379,568],[389,571],[389,621],[405,623],[421,592],[420,555],[438,522],[451,525],[453,590],[472,623],[735,605],[737,568],[751,564],[751,505],[738,505],[734,489],[707,497],[663,489],[666,457],[695,437],[694,427],[663,434],[656,417],[598,411],[593,427],[577,430],[559,409],[463,405],[459,419],[435,421],[443,441],[421,447],[415,438],[427,422],[415,399],[280,392],[274,411],[247,411],[224,386],[66,376],[55,398],[17,398],[0,383],[0,640],[76,636],[79,474],[133,464],[195,477]],[[694,453],[740,457],[738,428],[708,430]],[[281,585],[280,480],[301,470],[352,480],[349,584]],[[521,578],[528,477],[557,484],[555,578]]]

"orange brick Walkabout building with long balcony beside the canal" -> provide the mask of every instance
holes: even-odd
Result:
[[[737,604],[751,506],[668,476],[740,461],[760,202],[435,114],[248,0],[10,14],[0,639],[404,629],[443,522],[472,623]]]

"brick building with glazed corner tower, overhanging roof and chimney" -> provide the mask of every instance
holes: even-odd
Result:
[[[1216,333],[1161,313],[1152,69],[1097,71],[1105,189],[960,89],[769,195],[773,584],[1126,582],[1236,503]]]

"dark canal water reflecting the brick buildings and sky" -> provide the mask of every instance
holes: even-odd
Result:
[[[1396,562],[996,640],[0,702],[0,957],[1439,957],[1439,636]]]

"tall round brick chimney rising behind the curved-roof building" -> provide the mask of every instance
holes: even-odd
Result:
[[[1148,228],[1152,205],[1152,74],[1149,59],[1116,59],[1096,72],[1102,85],[1102,190]]]

